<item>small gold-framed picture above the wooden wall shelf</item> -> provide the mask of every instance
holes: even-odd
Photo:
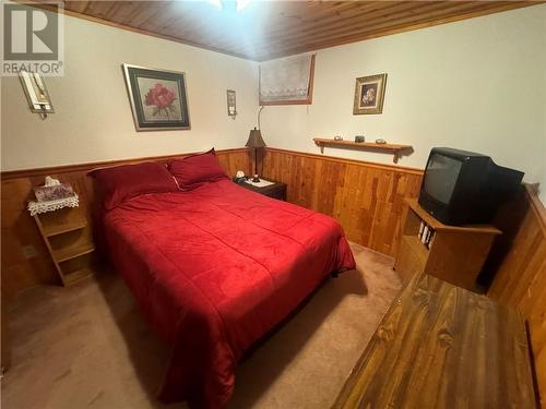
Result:
[[[353,115],[383,112],[387,74],[360,76],[356,79]]]

